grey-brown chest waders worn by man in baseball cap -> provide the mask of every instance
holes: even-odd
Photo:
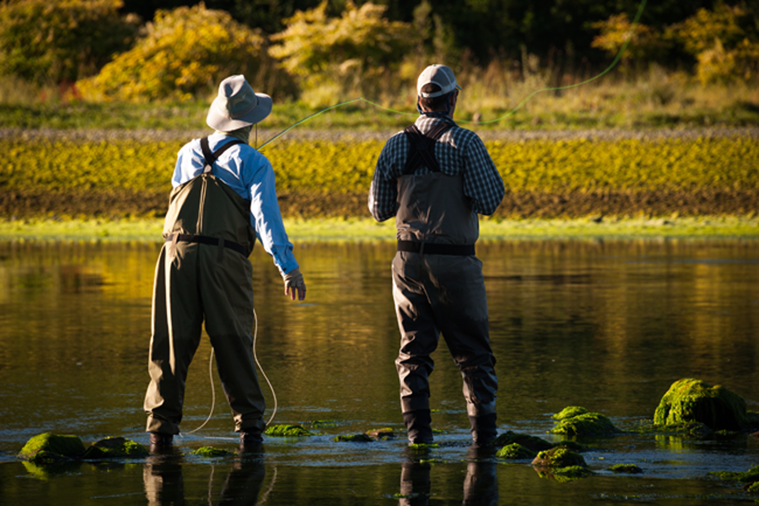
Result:
[[[395,366],[401,408],[411,443],[432,441],[430,382],[439,334],[463,378],[467,413],[476,443],[496,435],[498,380],[490,348],[482,262],[474,256],[477,213],[461,176],[440,170],[435,141],[450,128],[439,122],[426,135],[406,129],[411,153],[398,178],[398,253],[392,263],[393,299],[401,331]],[[430,173],[414,175],[419,165]]]

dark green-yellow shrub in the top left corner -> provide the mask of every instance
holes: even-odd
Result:
[[[139,17],[123,17],[121,0],[0,2],[0,72],[44,84],[94,74],[128,49]]]

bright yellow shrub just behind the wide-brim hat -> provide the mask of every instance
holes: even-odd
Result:
[[[228,12],[194,7],[156,11],[146,36],[95,77],[77,83],[87,100],[188,100],[214,93],[231,74],[250,82],[271,70],[263,36]],[[276,72],[274,73],[276,74]]]

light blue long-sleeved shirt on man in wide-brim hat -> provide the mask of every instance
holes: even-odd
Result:
[[[215,133],[208,137],[211,151],[234,138]],[[200,139],[184,144],[177,155],[177,166],[172,177],[172,186],[177,187],[203,173],[203,150]],[[256,237],[263,249],[272,255],[280,274],[298,268],[298,262],[288,240],[282,213],[277,203],[272,164],[261,153],[248,144],[238,144],[226,150],[213,164],[213,175],[221,179],[242,198],[250,201],[250,224],[256,230]]]

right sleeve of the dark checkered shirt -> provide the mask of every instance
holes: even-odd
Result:
[[[465,150],[465,166],[464,193],[471,198],[472,210],[485,215],[495,213],[505,193],[503,179],[476,134],[471,136]]]

